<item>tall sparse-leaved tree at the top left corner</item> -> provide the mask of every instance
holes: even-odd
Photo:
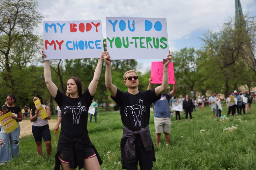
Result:
[[[38,48],[33,29],[42,19],[35,0],[0,0],[0,67],[6,86],[15,93],[12,69],[24,69]]]

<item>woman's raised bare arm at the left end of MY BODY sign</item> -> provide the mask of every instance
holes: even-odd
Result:
[[[44,58],[46,58],[46,55],[43,52],[44,52],[44,50],[42,50],[42,59],[44,60]],[[58,88],[52,82],[50,60],[44,60],[44,80],[45,80],[45,83],[46,83],[46,86],[47,86],[49,92],[55,98],[57,95]]]

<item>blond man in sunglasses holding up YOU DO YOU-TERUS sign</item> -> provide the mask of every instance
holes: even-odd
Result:
[[[138,75],[135,70],[126,71],[124,84],[128,92],[122,92],[112,83],[111,60],[108,52],[101,55],[106,63],[105,84],[111,98],[119,105],[124,124],[121,139],[122,168],[152,169],[155,159],[154,143],[149,131],[150,105],[160,99],[160,94],[168,88],[168,64],[172,57],[163,60],[163,82],[161,86],[145,92],[138,91]]]

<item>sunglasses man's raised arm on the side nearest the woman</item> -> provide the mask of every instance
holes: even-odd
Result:
[[[105,72],[105,84],[110,92],[111,96],[114,98],[117,95],[117,87],[112,84],[112,76],[111,76],[111,60],[108,52],[103,52],[101,55],[102,58],[104,58],[104,61],[106,63],[106,72]]]

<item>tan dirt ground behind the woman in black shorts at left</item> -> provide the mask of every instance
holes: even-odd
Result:
[[[57,124],[57,119],[50,119],[49,121],[49,127],[50,129],[54,129],[56,124]],[[23,119],[20,123],[21,126],[21,133],[20,133],[20,137],[23,136],[27,136],[27,135],[33,135],[32,134],[32,124],[33,122],[31,122],[29,119]]]

